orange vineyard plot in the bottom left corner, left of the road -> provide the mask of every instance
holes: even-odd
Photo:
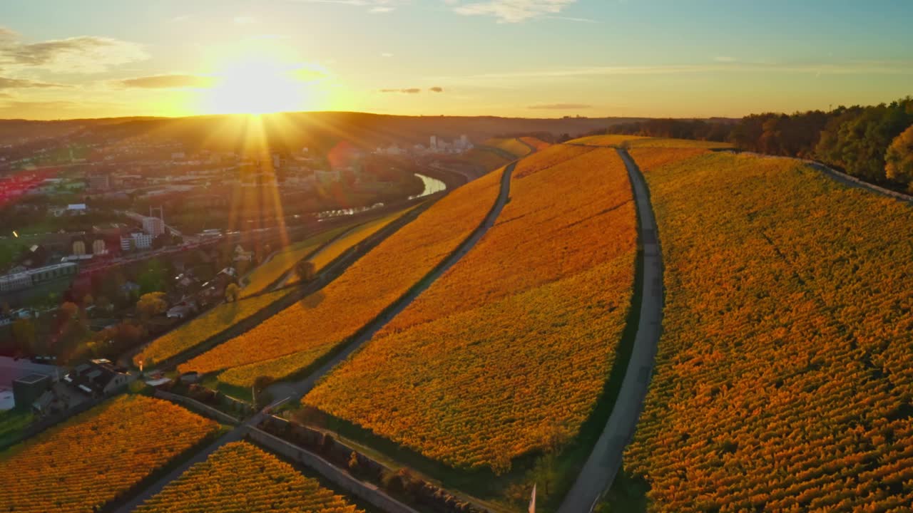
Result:
[[[173,403],[121,395],[0,454],[0,510],[100,508],[218,427]]]

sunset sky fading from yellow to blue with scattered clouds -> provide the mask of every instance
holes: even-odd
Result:
[[[0,118],[739,117],[913,94],[907,0],[5,0]]]

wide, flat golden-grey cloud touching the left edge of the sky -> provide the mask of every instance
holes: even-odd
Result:
[[[0,35],[0,65],[7,68],[98,73],[149,58],[140,45],[111,37],[80,36],[25,44],[9,35],[8,30]]]

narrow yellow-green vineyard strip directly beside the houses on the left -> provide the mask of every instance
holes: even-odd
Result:
[[[288,290],[277,290],[253,298],[218,305],[180,328],[152,340],[148,346],[133,357],[133,364],[139,367],[141,363],[144,363],[149,368],[157,362],[193,349],[233,324],[267,308],[288,293]]]

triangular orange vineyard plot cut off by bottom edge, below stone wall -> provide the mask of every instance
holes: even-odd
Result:
[[[289,464],[246,442],[220,447],[136,508],[136,513],[205,511],[362,511],[302,476]]]

